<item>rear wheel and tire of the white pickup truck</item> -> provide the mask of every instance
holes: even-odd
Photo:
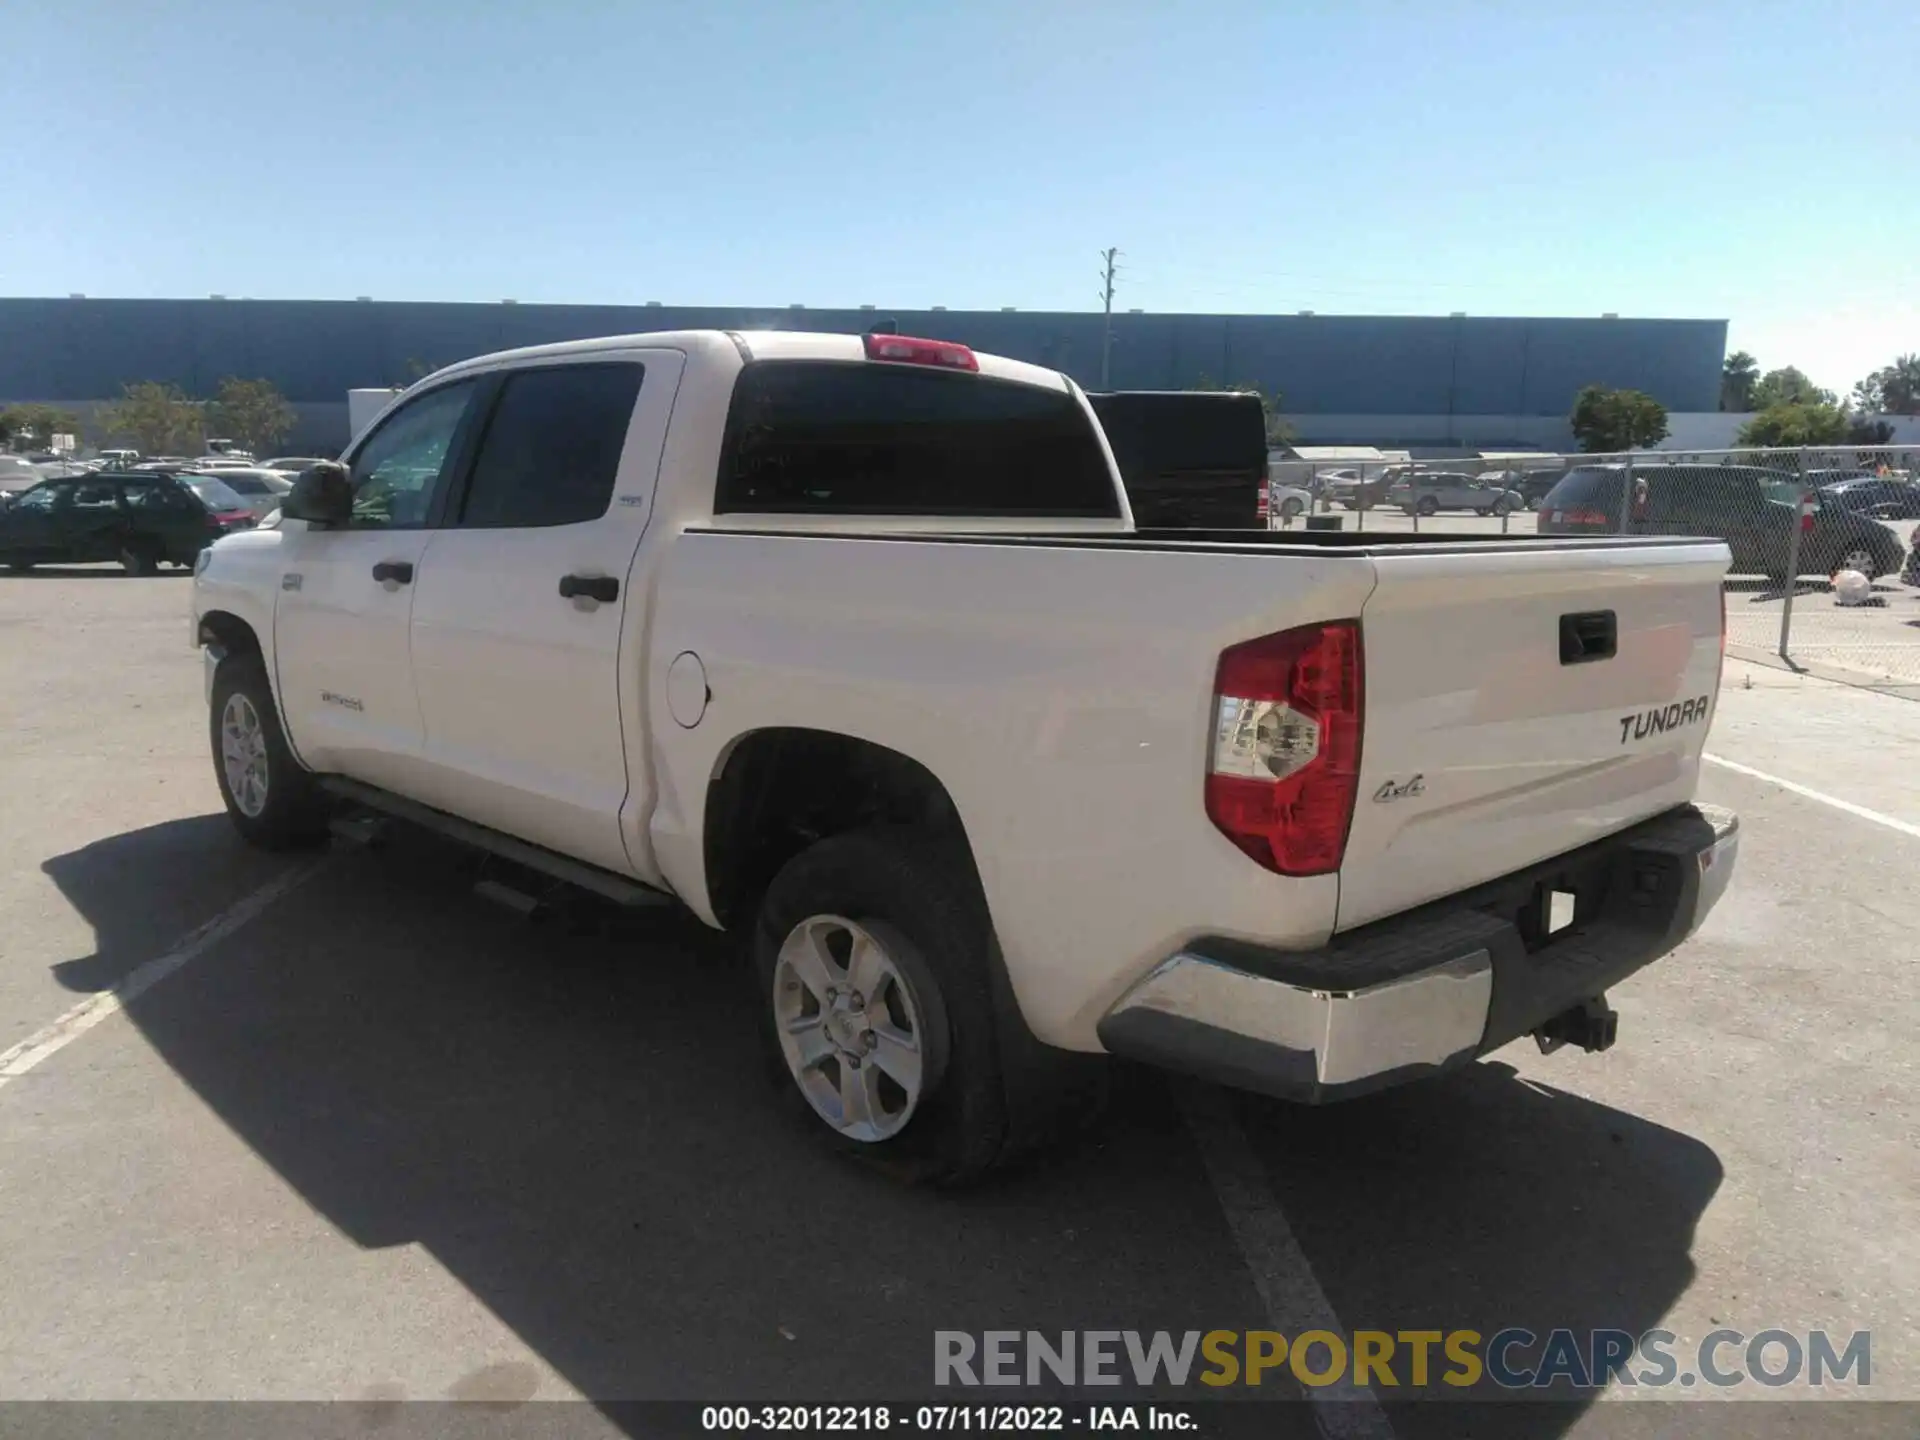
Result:
[[[1054,1139],[1010,1123],[995,964],[964,843],[889,828],[803,851],[753,929],[755,1006],[783,1102],[829,1148],[918,1185],[975,1181]]]

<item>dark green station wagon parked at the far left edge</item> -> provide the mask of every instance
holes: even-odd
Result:
[[[0,564],[119,561],[129,574],[192,564],[209,543],[252,528],[253,515],[219,480],[159,472],[46,480],[0,511]]]

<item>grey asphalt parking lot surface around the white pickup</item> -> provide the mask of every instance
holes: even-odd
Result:
[[[1123,1071],[1077,1148],[925,1194],[770,1104],[701,927],[528,925],[426,841],[246,851],[186,597],[0,578],[4,1400],[588,1398],[639,1432],[609,1402],[920,1396],[937,1329],[1260,1329],[1309,1294],[1348,1329],[1872,1331],[1870,1394],[1920,1402],[1920,707],[1730,666],[1703,799],[1740,872],[1603,1056],[1327,1110]],[[1738,1398],[1728,1434],[1912,1432]],[[1359,1432],[1461,1432],[1379,1400]],[[1682,1427],[1628,1411],[1473,1432]]]

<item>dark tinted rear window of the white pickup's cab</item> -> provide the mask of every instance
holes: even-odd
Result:
[[[910,365],[755,361],[733,386],[714,513],[1117,516],[1064,390]]]

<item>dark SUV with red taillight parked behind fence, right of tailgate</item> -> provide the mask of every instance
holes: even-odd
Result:
[[[1801,515],[1799,476],[1747,465],[1647,465],[1634,505],[1626,467],[1580,465],[1542,501],[1542,536],[1716,536],[1734,553],[1734,574],[1786,582],[1793,526],[1801,528],[1797,572],[1830,578],[1859,570],[1868,580],[1899,574],[1905,547],[1878,520],[1824,505]],[[1622,522],[1622,511],[1626,520]]]

